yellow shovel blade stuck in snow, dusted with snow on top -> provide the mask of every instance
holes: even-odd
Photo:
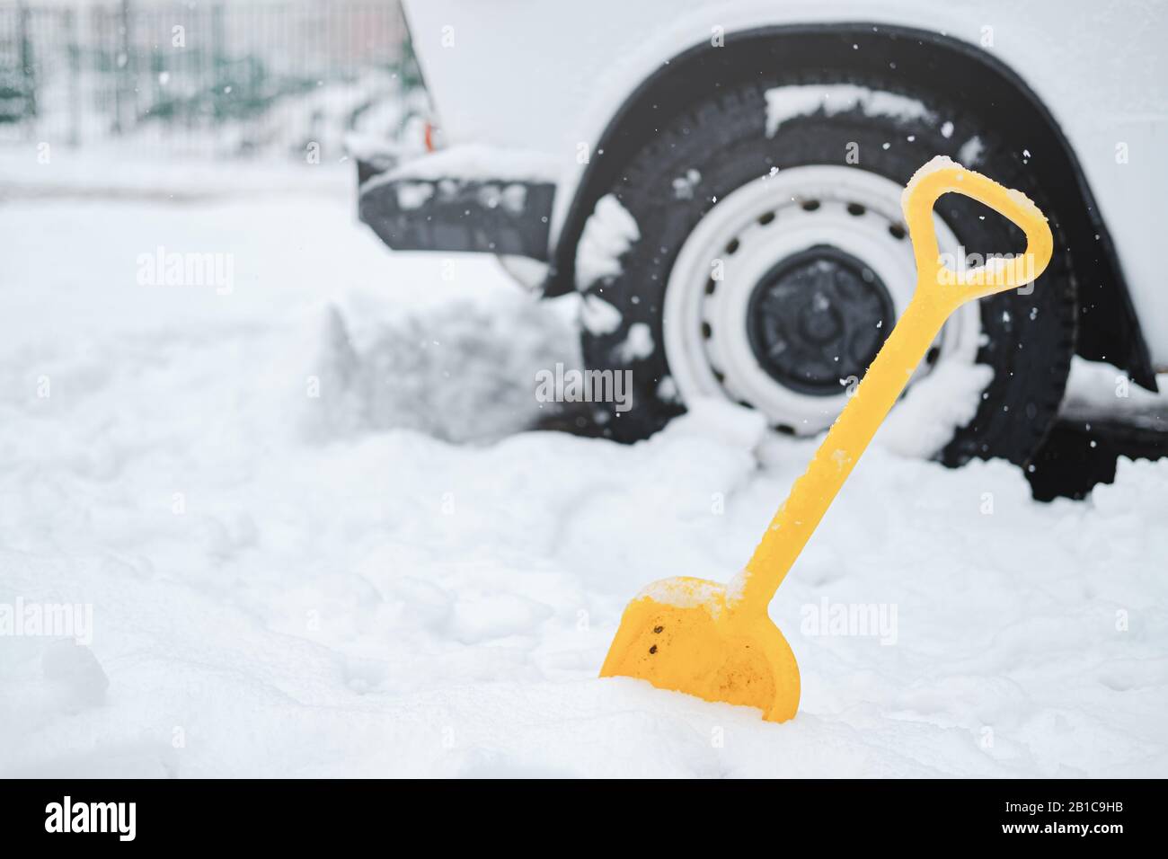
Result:
[[[786,721],[799,707],[799,667],[771,618],[726,608],[725,588],[667,579],[628,604],[600,677],[633,677],[658,688],[763,711]]]

